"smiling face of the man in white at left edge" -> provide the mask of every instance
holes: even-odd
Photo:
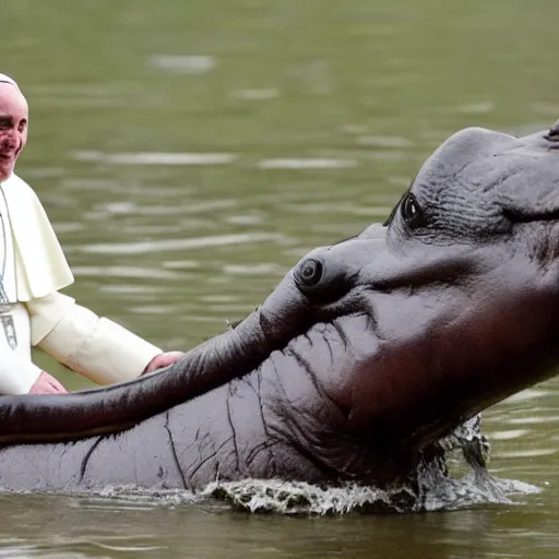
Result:
[[[12,173],[27,142],[27,102],[12,84],[0,83],[0,182]]]

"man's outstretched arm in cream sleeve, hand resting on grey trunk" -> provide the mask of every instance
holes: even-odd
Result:
[[[170,365],[182,355],[163,354],[153,344],[58,292],[25,305],[32,344],[98,384],[134,379]]]

